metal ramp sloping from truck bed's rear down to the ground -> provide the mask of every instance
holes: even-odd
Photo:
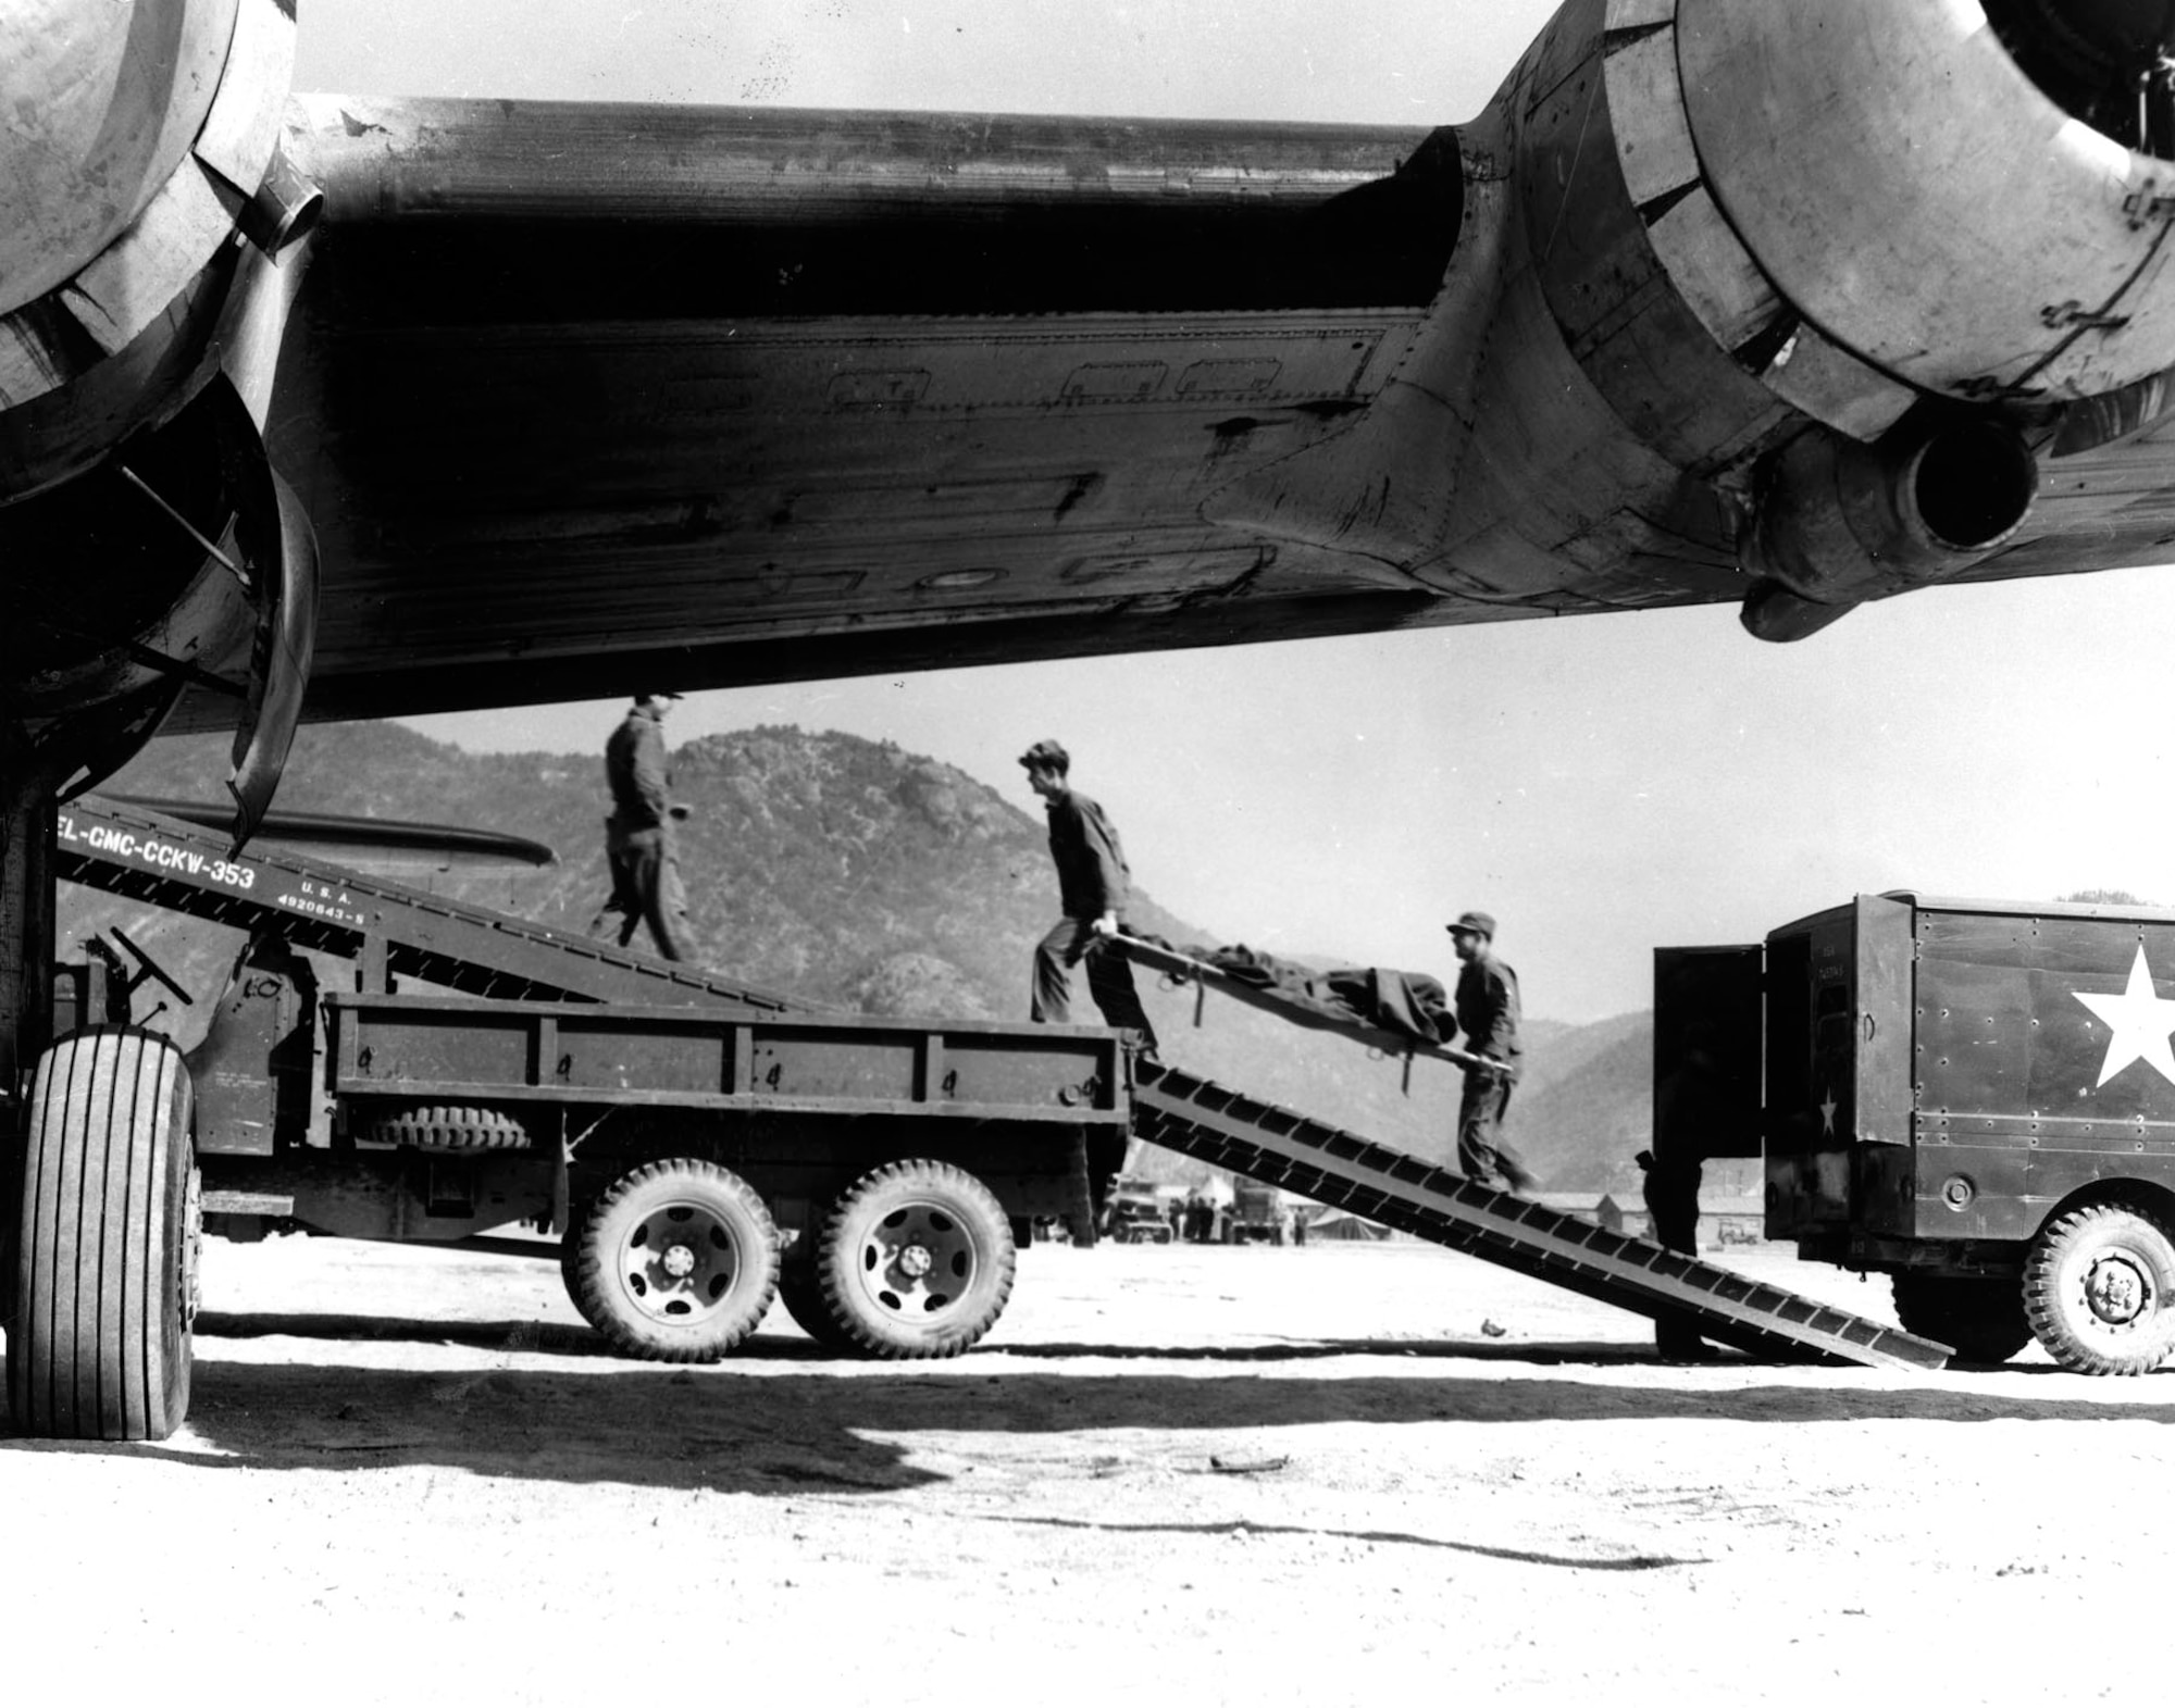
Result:
[[[1757,1356],[1812,1349],[1890,1369],[1940,1369],[1951,1356],[1936,1341],[1475,1186],[1407,1152],[1155,1060],[1133,1067],[1133,1134],[1623,1310],[1681,1313],[1703,1336]]]

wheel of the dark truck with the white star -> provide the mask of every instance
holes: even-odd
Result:
[[[2068,1210],[2031,1245],[2025,1313],[2064,1369],[2158,1369],[2175,1347],[2175,1239],[2155,1217],[2123,1204]]]

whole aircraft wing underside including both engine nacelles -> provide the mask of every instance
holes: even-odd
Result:
[[[289,96],[285,0],[50,4],[0,667],[259,802],[300,715],[2175,548],[2138,0],[1566,0],[1435,128]]]

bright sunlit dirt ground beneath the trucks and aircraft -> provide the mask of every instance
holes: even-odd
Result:
[[[946,1365],[659,1369],[546,1260],[213,1241],[183,1434],[0,1439],[0,1630],[76,1701],[2158,1704],[2171,1421],[1660,1367],[1425,1245],[1044,1245]]]

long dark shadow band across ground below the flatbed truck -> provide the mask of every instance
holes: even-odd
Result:
[[[1651,1365],[1623,1345],[1468,1345],[1333,1341],[1292,1347],[1168,1349],[992,1345],[942,1365],[831,1360],[800,1336],[759,1334],[709,1367],[655,1367],[605,1354],[587,1330],[539,1323],[446,1323],[383,1317],[200,1319],[189,1428],[165,1445],[115,1447],[9,1439],[4,1452],[163,1456],[204,1471],[431,1465],[537,1482],[629,1482],[726,1493],[861,1495],[916,1489],[948,1473],[907,1462],[900,1439],[1051,1436],[1088,1430],[1242,1432],[1307,1423],[1851,1423],[2088,1421],[2175,1423],[2158,1382],[2123,1399],[2034,1397],[1947,1386],[1940,1373],[1890,1378],[1816,1371],[1747,1386],[1762,1369],[1731,1358],[1736,1386],[1705,1371]],[[252,1356],[254,1336],[307,1336],[311,1362]],[[385,1369],[337,1360],[337,1343],[474,1347],[455,1369]],[[287,1349],[283,1349],[285,1354]],[[1396,1354],[1394,1373],[1316,1369],[1320,1360]],[[513,1358],[566,1356],[568,1369]],[[1122,1367],[1111,1369],[1111,1362]],[[1603,1367],[1614,1367],[1603,1373]],[[1536,1371],[1551,1371],[1546,1376]],[[1590,1371],[1581,1376],[1579,1371]],[[2003,1382],[2042,1386],[2053,1369]],[[2138,1395],[2138,1397],[2132,1397]]]

